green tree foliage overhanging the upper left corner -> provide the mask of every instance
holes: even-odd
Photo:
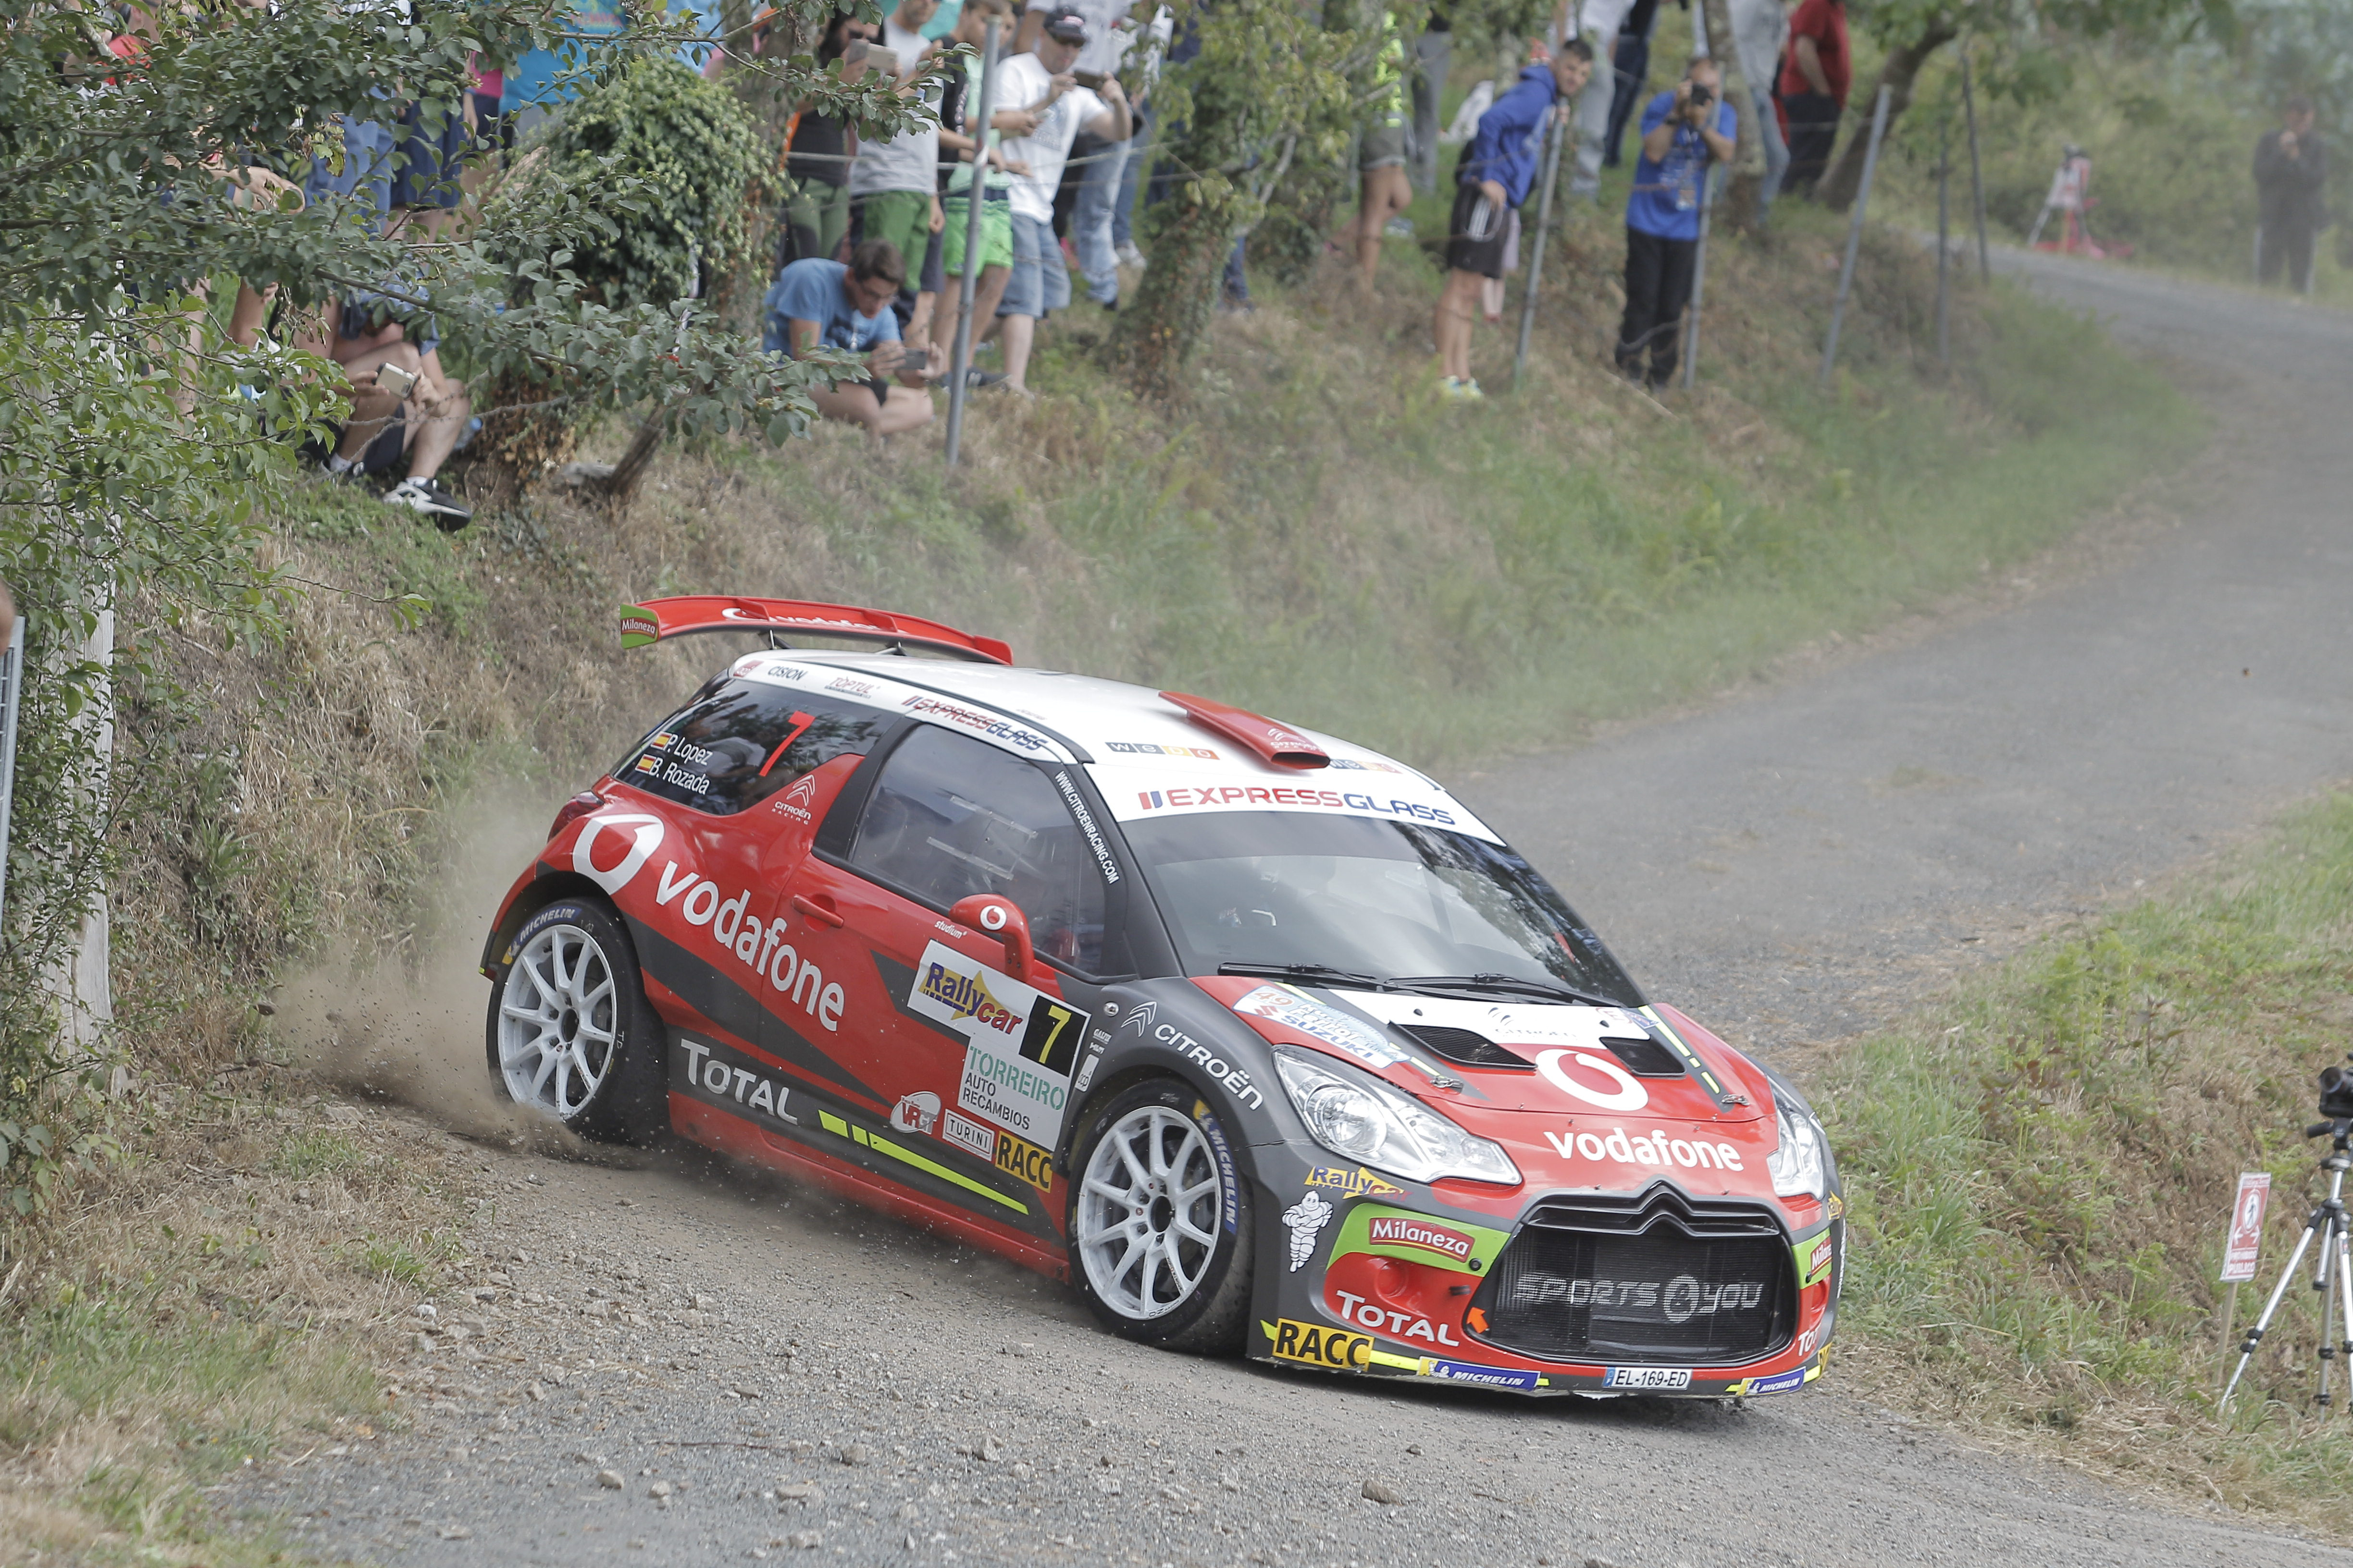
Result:
[[[833,0],[781,12],[812,35]],[[167,625],[271,637],[308,590],[264,564],[261,517],[292,482],[294,442],[341,409],[341,371],[226,343],[207,303],[216,315],[235,280],[294,310],[374,292],[431,310],[478,371],[555,383],[576,414],[652,400],[699,433],[793,437],[814,416],[809,386],[847,374],[840,357],[744,353],[661,301],[586,287],[574,259],[664,209],[659,169],[551,169],[438,240],[384,233],[365,202],[273,200],[245,176],[339,167],[341,122],[391,120],[391,94],[454,113],[473,56],[560,49],[595,94],[682,33],[638,12],[631,35],[581,59],[551,16],[539,0],[158,7],[125,59],[111,9],[0,0],[0,578],[28,623],[0,910],[0,1190],[19,1204],[85,1147],[89,1103],[66,1086],[89,1093],[104,1065],[61,1048],[54,971],[108,884],[115,689],[160,677]],[[911,113],[807,56],[748,68],[868,134]],[[113,654],[92,642],[108,616]]]

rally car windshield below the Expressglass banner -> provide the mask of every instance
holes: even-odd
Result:
[[[1527,860],[1464,832],[1301,811],[1122,823],[1186,971],[1308,964],[1511,976],[1640,1006],[1617,959]]]

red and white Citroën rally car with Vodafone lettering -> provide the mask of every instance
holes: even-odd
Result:
[[[504,1093],[1075,1286],[1113,1331],[1522,1394],[1821,1375],[1805,1100],[1645,1001],[1454,795],[1224,703],[838,604],[558,811],[482,952]]]

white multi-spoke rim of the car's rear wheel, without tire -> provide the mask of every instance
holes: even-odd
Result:
[[[569,1121],[614,1065],[616,987],[598,940],[574,924],[534,931],[499,997],[499,1077],[518,1105]]]

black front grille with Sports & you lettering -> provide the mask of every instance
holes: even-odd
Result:
[[[1539,1204],[1471,1305],[1527,1356],[1732,1366],[1788,1345],[1798,1276],[1772,1211],[1654,1182]]]

